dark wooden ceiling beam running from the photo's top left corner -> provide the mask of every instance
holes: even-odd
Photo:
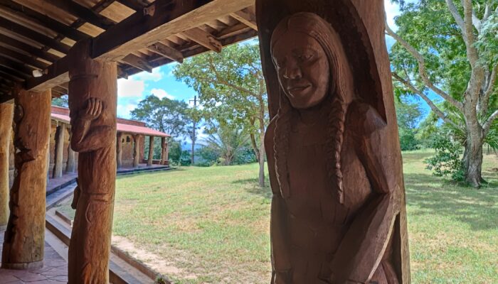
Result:
[[[75,28],[71,28],[66,26],[59,21],[54,20],[51,17],[43,15],[43,13],[39,13],[38,11],[34,11],[26,6],[21,4],[14,3],[11,0],[0,0],[0,6],[3,6],[4,9],[11,11],[11,13],[16,13],[19,16],[26,18],[31,21],[35,21],[41,26],[45,26],[46,28],[55,31],[56,33],[61,33],[67,38],[71,38],[75,41],[83,40],[85,38],[89,38],[89,35],[82,33]]]

